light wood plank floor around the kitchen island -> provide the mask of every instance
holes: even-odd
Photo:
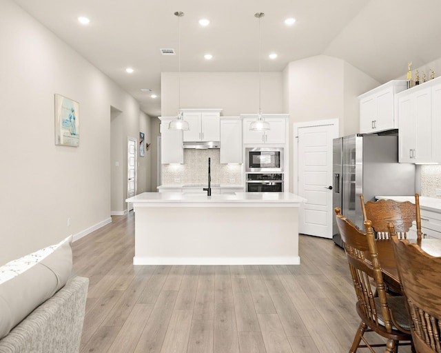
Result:
[[[73,251],[90,279],[81,353],[348,352],[360,323],[328,239],[300,236],[301,265],[135,266],[130,212]]]

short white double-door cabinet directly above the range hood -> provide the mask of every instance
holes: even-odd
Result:
[[[182,109],[189,130],[183,132],[184,142],[220,141],[221,109]]]

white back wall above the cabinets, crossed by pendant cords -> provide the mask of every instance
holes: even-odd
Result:
[[[180,108],[222,108],[224,117],[258,112],[258,72],[181,72]],[[161,115],[176,115],[178,73],[161,75]],[[262,72],[263,113],[283,113],[282,72]]]

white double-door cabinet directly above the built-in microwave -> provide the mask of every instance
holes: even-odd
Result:
[[[287,141],[288,114],[263,114],[269,123],[269,130],[249,130],[249,125],[257,119],[256,114],[243,114],[243,143],[285,144]]]

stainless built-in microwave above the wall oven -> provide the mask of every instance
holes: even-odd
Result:
[[[283,148],[245,148],[247,172],[283,172]]]

